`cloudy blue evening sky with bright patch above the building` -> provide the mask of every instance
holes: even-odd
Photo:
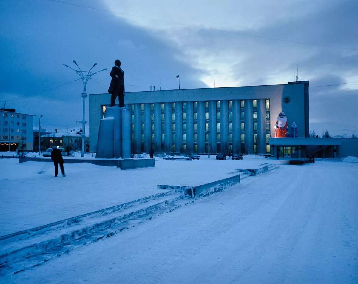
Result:
[[[76,67],[73,59],[108,68],[87,93],[107,91],[115,59],[126,92],[176,89],[178,73],[180,88],[214,87],[214,70],[216,87],[249,77],[285,84],[298,64],[310,81],[310,121],[358,125],[357,14],[357,0],[1,0],[0,107],[42,114],[50,130],[75,126],[82,82],[62,65]]]

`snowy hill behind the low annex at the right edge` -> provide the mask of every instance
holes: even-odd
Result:
[[[330,136],[351,137],[352,134],[358,134],[357,126],[336,122],[313,122],[310,123],[310,131],[312,130],[319,136],[326,130]]]

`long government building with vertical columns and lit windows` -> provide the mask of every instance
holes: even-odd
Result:
[[[284,85],[129,92],[132,152],[273,154],[276,117],[285,112],[309,137],[309,81]],[[89,95],[90,151],[110,94]],[[118,102],[118,100],[117,100]]]

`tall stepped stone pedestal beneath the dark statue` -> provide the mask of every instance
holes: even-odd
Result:
[[[130,158],[131,114],[126,107],[107,107],[100,121],[96,158]]]

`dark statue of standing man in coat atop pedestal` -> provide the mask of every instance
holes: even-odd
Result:
[[[111,96],[111,106],[115,105],[118,96],[119,106],[124,106],[124,72],[122,70],[121,62],[117,59],[114,62],[115,66],[112,67],[110,76],[112,77],[108,93]]]

